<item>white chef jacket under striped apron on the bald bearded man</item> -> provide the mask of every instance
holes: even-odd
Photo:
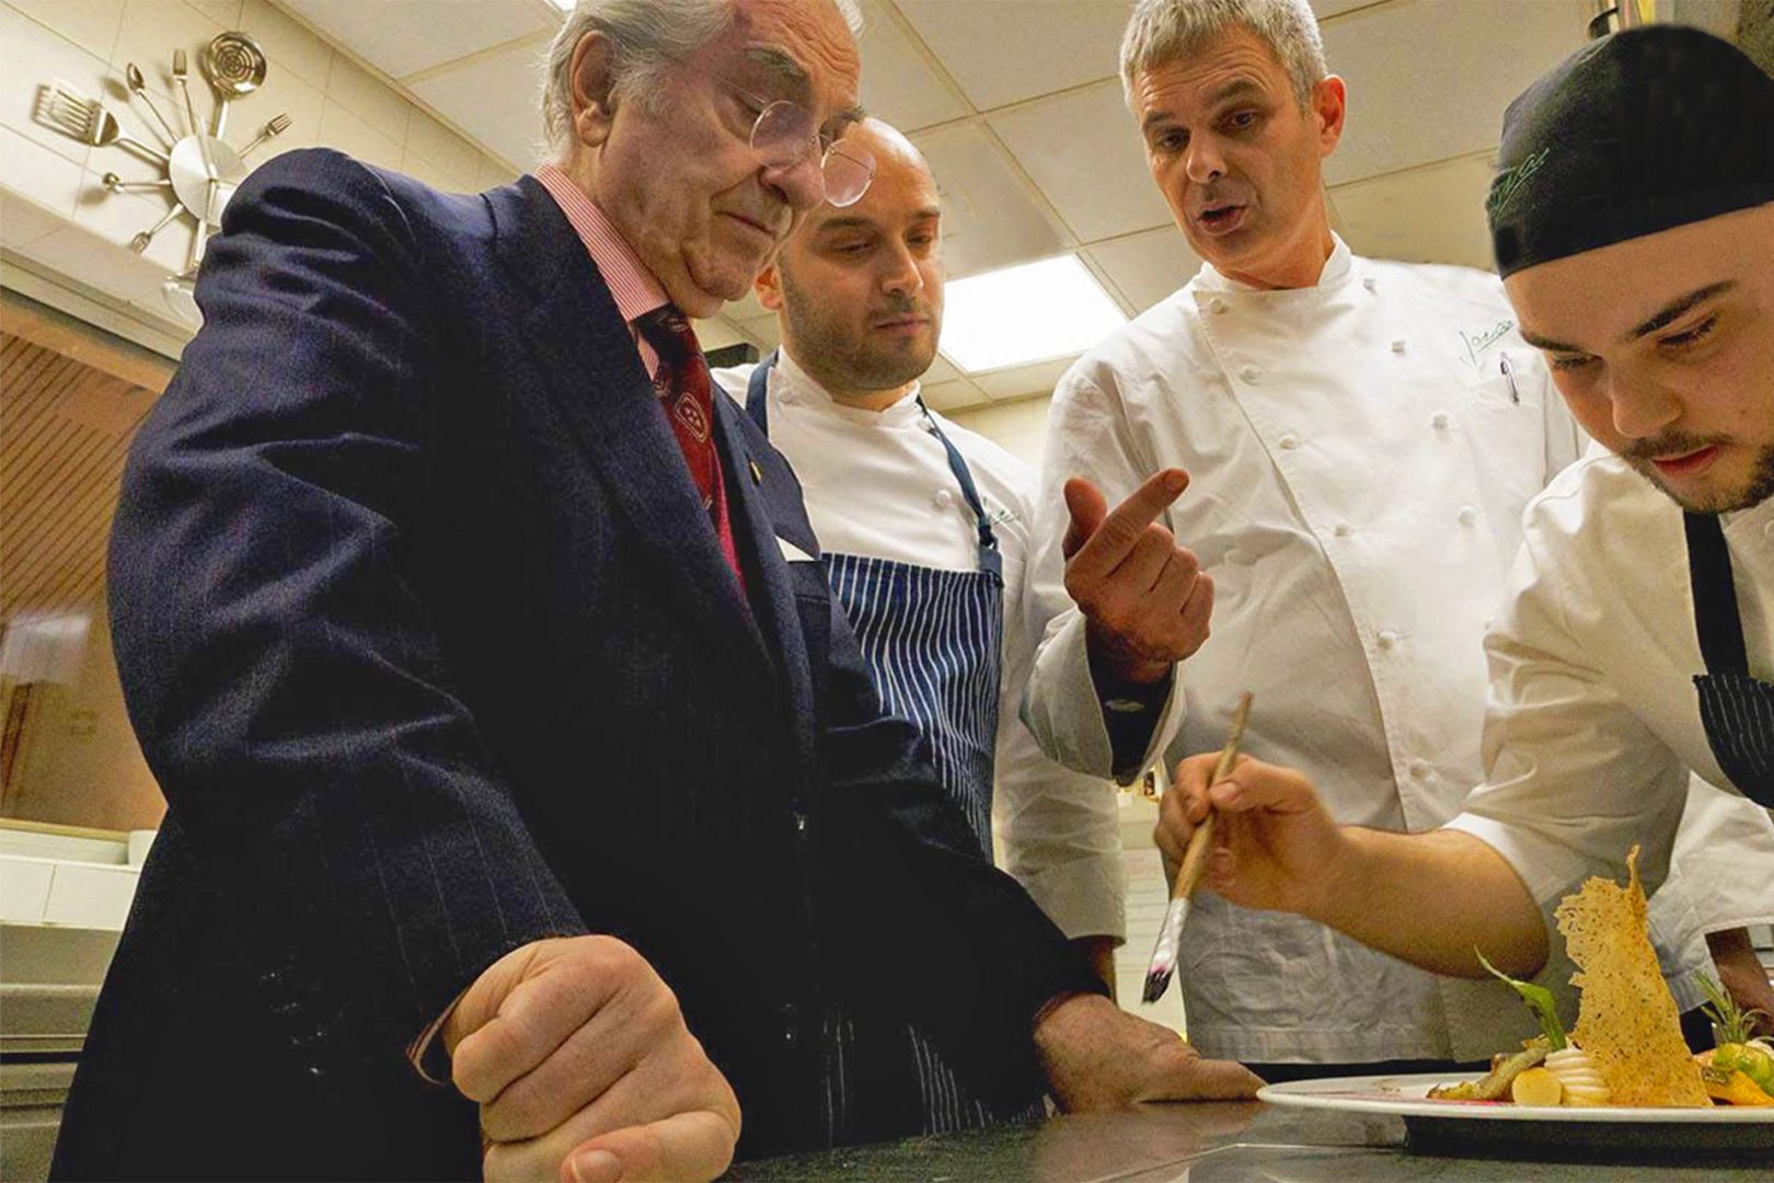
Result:
[[[745,404],[752,365],[713,371]],[[843,406],[784,349],[770,371],[770,442],[800,477],[807,518],[832,553],[947,571],[979,566],[974,514],[942,442],[924,426],[915,388],[883,411]],[[967,459],[1004,557],[1004,640],[999,665],[993,830],[1004,869],[1066,936],[1126,936],[1119,816],[1114,791],[1041,754],[1017,708],[1034,642],[1027,626],[1034,472],[947,419],[944,435]],[[1063,592],[1061,592],[1063,594]]]

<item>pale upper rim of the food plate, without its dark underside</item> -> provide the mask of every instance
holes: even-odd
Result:
[[[1421,1077],[1339,1077],[1268,1084],[1256,1094],[1272,1105],[1339,1109],[1400,1117],[1448,1121],[1565,1121],[1565,1123],[1652,1123],[1652,1124],[1765,1124],[1774,1126],[1774,1105],[1712,1105],[1707,1109],[1639,1109],[1627,1105],[1504,1105],[1497,1101],[1432,1101],[1428,1091],[1456,1080],[1481,1080],[1483,1073],[1435,1073]]]

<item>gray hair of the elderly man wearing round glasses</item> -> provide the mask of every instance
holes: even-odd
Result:
[[[852,34],[862,32],[857,0],[832,0]],[[614,50],[610,92],[617,101],[653,103],[658,78],[727,32],[734,0],[578,0],[548,44],[543,73],[543,131],[564,154],[573,144],[573,50],[601,32]]]

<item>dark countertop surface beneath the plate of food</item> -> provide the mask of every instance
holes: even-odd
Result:
[[[1627,1128],[1613,1126],[1613,1132],[1607,1137],[1618,1146]],[[1504,1148],[1465,1151],[1497,1156],[1416,1153],[1405,1149],[1405,1123],[1400,1117],[1283,1109],[1261,1101],[1194,1103],[1050,1117],[1043,1123],[976,1133],[763,1158],[734,1165],[727,1178],[821,1183],[841,1179],[1600,1183],[1646,1178],[1767,1183],[1774,1178],[1774,1126],[1758,1126],[1756,1137],[1762,1139],[1760,1149],[1719,1156],[1668,1148],[1660,1148],[1660,1156],[1657,1149],[1623,1151],[1620,1162],[1602,1165],[1598,1156],[1607,1151],[1574,1153],[1575,1162],[1508,1158],[1503,1156],[1508,1153]],[[1561,1149],[1545,1153],[1558,1155]]]

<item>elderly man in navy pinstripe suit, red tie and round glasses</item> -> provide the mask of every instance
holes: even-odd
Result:
[[[1254,1087],[981,858],[710,399],[687,317],[860,195],[855,89],[830,0],[587,0],[559,167],[239,190],[112,539],[170,809],[60,1178],[710,1178]]]

